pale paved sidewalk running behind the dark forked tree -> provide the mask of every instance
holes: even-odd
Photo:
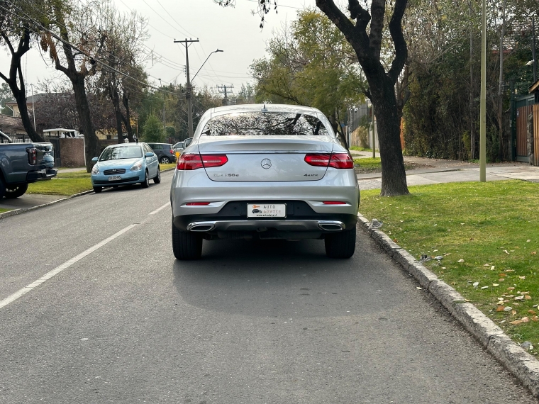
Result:
[[[355,158],[372,157],[372,152],[350,151]],[[379,157],[378,153],[377,156]],[[440,184],[443,182],[479,181],[479,164],[457,160],[427,159],[424,157],[404,157],[404,162],[413,162],[430,166],[412,169],[406,172],[406,182],[412,185]],[[487,164],[487,181],[521,179],[539,182],[539,167],[522,162],[504,162]],[[382,174],[357,174],[360,189],[379,189],[382,186]]]

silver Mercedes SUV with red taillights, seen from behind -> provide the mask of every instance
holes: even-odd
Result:
[[[172,179],[172,250],[203,240],[323,239],[328,257],[355,251],[354,162],[326,116],[285,105],[206,111]]]

